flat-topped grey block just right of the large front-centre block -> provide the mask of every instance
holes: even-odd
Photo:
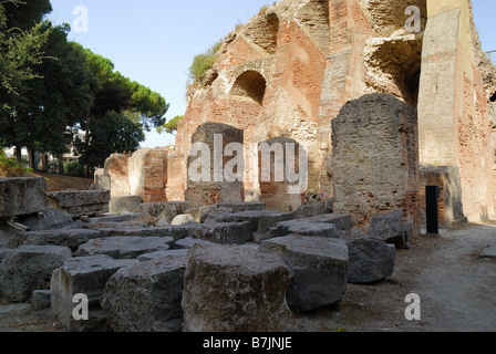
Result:
[[[265,241],[260,251],[279,254],[291,269],[286,299],[292,311],[308,312],[343,300],[349,264],[345,241],[290,235]]]

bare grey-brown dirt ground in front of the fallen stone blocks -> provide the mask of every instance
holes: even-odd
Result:
[[[339,309],[296,315],[299,332],[494,332],[496,260],[479,253],[496,243],[496,222],[443,230],[397,252],[392,278],[348,285]],[[405,298],[421,298],[421,320],[407,321]],[[0,305],[0,332],[61,332],[49,310]]]

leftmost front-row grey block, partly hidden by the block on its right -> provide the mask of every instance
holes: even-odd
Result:
[[[108,256],[73,258],[55,269],[50,282],[51,309],[59,321],[72,332],[106,331],[105,313],[100,304],[107,280],[121,268],[137,260],[114,260]],[[74,295],[89,299],[89,321],[75,321],[72,316]]]

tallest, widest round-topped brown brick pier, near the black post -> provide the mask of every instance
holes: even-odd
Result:
[[[392,95],[351,101],[332,122],[334,211],[366,232],[372,218],[397,209],[416,233],[417,114]]]

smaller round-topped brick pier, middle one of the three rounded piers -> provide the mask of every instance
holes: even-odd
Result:
[[[287,146],[294,152],[294,160],[291,162]],[[260,201],[265,202],[267,209],[282,212],[296,211],[303,204],[303,195],[308,186],[308,157],[303,163],[301,157],[307,157],[307,152],[296,140],[288,137],[275,137],[258,145],[258,180],[260,186]],[[270,163],[269,166],[265,165]],[[287,164],[293,168],[302,179],[291,181],[288,175]],[[283,168],[281,170],[280,168]],[[301,183],[301,184],[300,184]],[[289,187],[302,187],[298,192]],[[299,189],[299,188],[297,188]]]

